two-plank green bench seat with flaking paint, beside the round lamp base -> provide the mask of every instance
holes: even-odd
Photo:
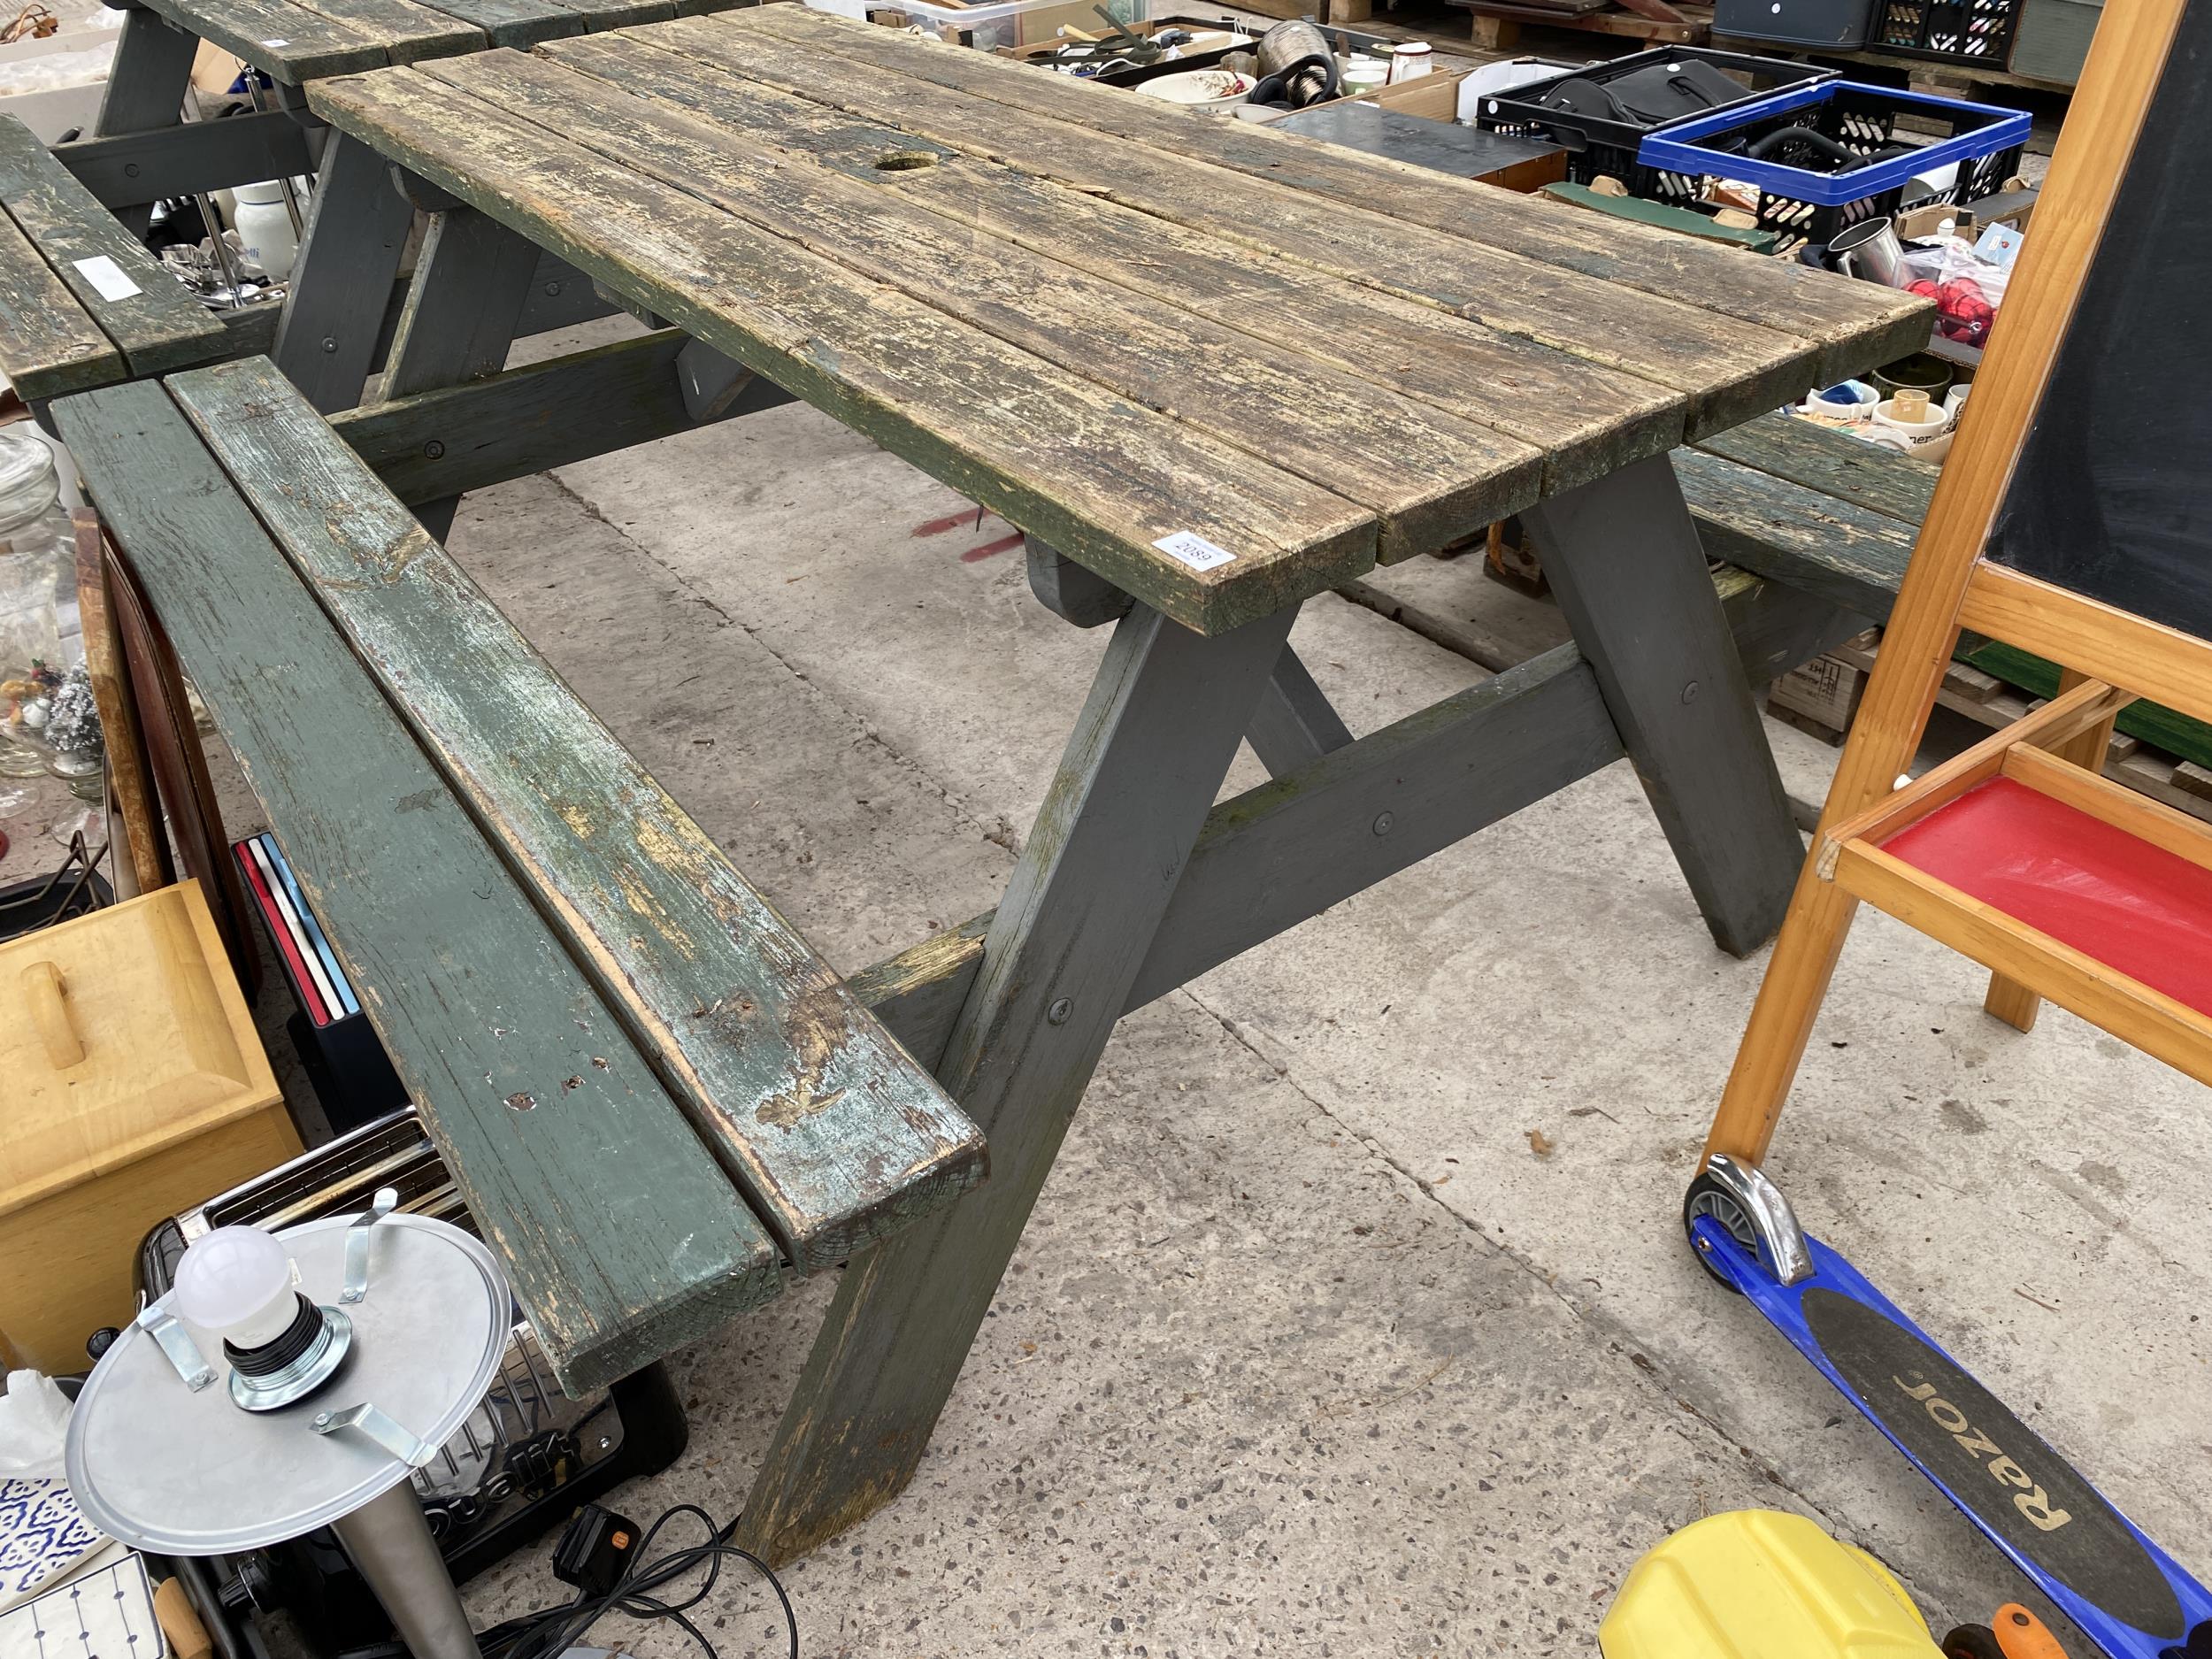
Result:
[[[265,358],[51,411],[566,1387],[982,1179],[860,993]]]

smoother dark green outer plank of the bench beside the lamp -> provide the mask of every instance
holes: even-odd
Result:
[[[562,1385],[774,1296],[761,1223],[168,394],[53,418]]]

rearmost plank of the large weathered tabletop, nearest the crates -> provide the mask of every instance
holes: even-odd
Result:
[[[1924,345],[1924,334],[1916,338],[1913,330],[1929,325],[1927,301],[1876,283],[1856,283],[1792,261],[1747,259],[1739,250],[1650,226],[1593,221],[1542,197],[1254,122],[1217,122],[1157,97],[1119,97],[1119,88],[1091,86],[1071,75],[1029,75],[1029,64],[980,51],[936,51],[898,31],[810,7],[757,7],[732,15],[728,24],[823,46],[876,69],[1055,115],[1175,155],[1203,157],[1405,223],[1451,230],[1504,252],[1796,334],[1823,349],[1827,378],[1858,374]]]

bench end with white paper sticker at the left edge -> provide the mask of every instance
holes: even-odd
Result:
[[[24,403],[223,356],[223,325],[0,115],[0,374]]]

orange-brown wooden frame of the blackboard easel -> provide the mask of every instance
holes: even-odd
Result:
[[[2033,1024],[2039,998],[2051,995],[2185,1071],[2212,1073],[2212,1022],[2194,1011],[2110,971],[2099,975],[2097,964],[2086,958],[2064,962],[2064,947],[2053,951],[2053,940],[2013,918],[1978,916],[1978,927],[1969,929],[1958,920],[1971,914],[1971,900],[1962,894],[1920,894],[1927,902],[1916,902],[1913,894],[1882,885],[1898,880],[1898,872],[1863,856],[1871,847],[1869,830],[1896,830],[1907,821],[1905,814],[1940,805],[1936,796],[1942,790],[1951,787],[1955,796],[1980,776],[2006,772],[2031,785],[2044,779],[2068,790],[2079,790],[2079,779],[2095,781],[2110,719],[2126,701],[2110,688],[2141,690],[2199,719],[2212,719],[2212,641],[1982,557],[2185,9],[2188,0],[2128,0],[2108,9],[2097,29],[2035,212],[2035,234],[2013,272],[2004,325],[1975,378],[1958,449],[1936,487],[1898,591],[1874,679],[1820,812],[1812,856],[1798,874],[1774,960],[1721,1095],[1705,1141],[1708,1157],[1725,1152],[1752,1164],[1765,1159],[1860,898],[1902,914],[1922,931],[1991,964],[1995,978],[1986,1006],[2022,1031]],[[1920,748],[1962,628],[2059,661],[2068,670],[2062,697],[1900,790],[1900,774]],[[2095,710],[2088,719],[2075,719],[2088,710]],[[2066,765],[2068,776],[2037,772],[2039,763],[2033,759],[2008,759],[2039,739],[2051,745],[2053,761]],[[2104,816],[2126,812],[2126,827],[2135,834],[2143,834],[2137,823],[2148,816],[2157,830],[2177,836],[2177,849],[2194,847],[2183,856],[2199,863],[2205,860],[2199,854],[2212,854],[2212,836],[2201,834],[2201,825],[2183,832],[2104,794],[2084,801],[2106,807]],[[2181,823],[2194,825],[2188,818]],[[2037,984],[2008,978],[2006,967],[2033,971]]]

